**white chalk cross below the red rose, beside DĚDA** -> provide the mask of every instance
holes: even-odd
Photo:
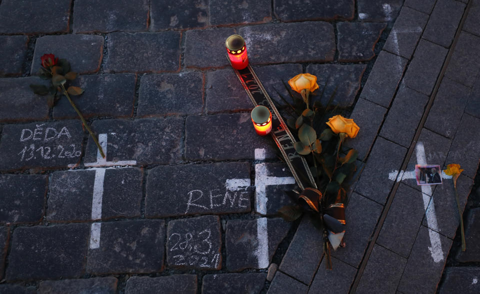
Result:
[[[136,164],[136,160],[116,162],[106,161],[107,134],[99,134],[98,143],[103,150],[103,154],[105,154],[105,158],[101,156],[100,150],[97,150],[96,162],[84,164],[85,167],[94,167],[92,169],[95,170],[95,181],[93,182],[93,196],[91,200],[91,219],[93,221],[101,219],[101,202],[103,198],[103,180],[105,179],[105,170],[108,169],[108,167],[113,166],[129,166]],[[100,232],[101,223],[92,223],[90,226],[90,249],[97,249],[100,247]]]

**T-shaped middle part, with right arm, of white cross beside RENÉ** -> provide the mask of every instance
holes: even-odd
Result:
[[[266,214],[266,186],[295,184],[293,177],[270,177],[265,163],[255,164],[255,211]]]

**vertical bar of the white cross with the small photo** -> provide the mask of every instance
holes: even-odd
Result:
[[[417,142],[415,146],[417,164],[426,165],[425,148],[422,142]],[[431,186],[422,185],[421,193],[423,198],[423,207],[425,208],[426,223],[428,225],[428,235],[430,237],[431,247],[428,247],[430,255],[435,263],[443,260],[443,250],[441,249],[440,235],[436,221],[435,206],[431,197]],[[429,205],[428,205],[429,204]]]

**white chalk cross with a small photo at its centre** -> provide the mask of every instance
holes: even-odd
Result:
[[[420,165],[426,165],[425,148],[422,142],[417,142],[415,146],[416,162]],[[442,172],[441,175],[444,179],[451,179],[451,176],[447,176]],[[399,182],[406,179],[416,179],[415,171],[392,171],[388,174],[388,179]],[[428,250],[435,263],[443,261],[443,250],[441,249],[440,235],[438,234],[438,224],[435,214],[435,204],[431,197],[431,186],[421,185],[421,195],[423,199],[423,208],[425,210],[426,222],[428,224],[428,235],[430,237],[430,245]],[[428,207],[428,204],[430,206]]]

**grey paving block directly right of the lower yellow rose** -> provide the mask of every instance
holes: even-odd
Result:
[[[358,131],[354,140],[347,140],[345,142],[345,146],[355,148],[358,151],[359,159],[364,159],[368,155],[370,147],[383,122],[386,110],[386,108],[378,104],[361,97],[358,98],[350,118],[352,118],[357,125],[361,125],[362,128]]]

